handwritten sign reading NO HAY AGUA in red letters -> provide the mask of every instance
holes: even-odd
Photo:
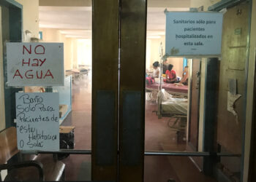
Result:
[[[7,84],[64,85],[63,47],[63,43],[7,43]]]

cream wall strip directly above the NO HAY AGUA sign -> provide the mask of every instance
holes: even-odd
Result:
[[[25,31],[31,32],[31,37],[39,34],[39,0],[16,0],[23,5],[23,41],[26,40]]]

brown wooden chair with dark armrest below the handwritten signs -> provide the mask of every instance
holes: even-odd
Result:
[[[53,159],[53,155],[39,154],[34,160],[18,160],[15,127],[0,132],[0,171],[7,170],[7,176],[0,181],[62,181],[65,165]],[[12,158],[12,159],[11,159]],[[15,159],[13,159],[15,158]]]

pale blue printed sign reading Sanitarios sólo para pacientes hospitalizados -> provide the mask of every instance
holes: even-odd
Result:
[[[221,55],[222,18],[218,12],[167,12],[165,54]]]

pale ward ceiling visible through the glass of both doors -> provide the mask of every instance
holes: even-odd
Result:
[[[189,8],[174,7],[167,8],[167,10],[187,11]],[[165,35],[164,11],[164,7],[148,7],[148,39],[157,39],[159,36]],[[90,39],[91,15],[91,7],[40,6],[39,28],[56,28],[67,37]]]

